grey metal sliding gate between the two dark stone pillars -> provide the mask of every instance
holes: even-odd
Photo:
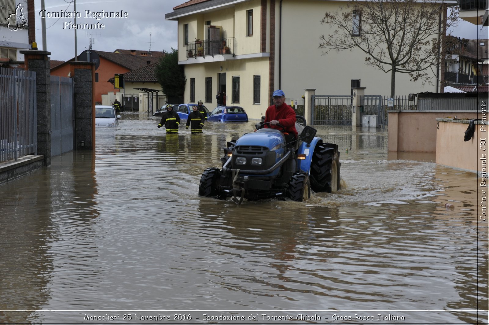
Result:
[[[51,157],[73,150],[73,88],[72,78],[51,76]]]

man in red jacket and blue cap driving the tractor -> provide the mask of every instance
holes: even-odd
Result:
[[[295,111],[285,103],[284,92],[278,89],[273,92],[272,97],[275,105],[267,108],[265,122],[270,122],[270,124],[265,125],[265,127],[283,131],[277,124],[283,125],[285,127],[285,132],[289,133],[289,135],[293,135],[295,139],[297,139],[298,134],[295,129]]]

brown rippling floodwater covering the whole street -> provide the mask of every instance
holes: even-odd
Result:
[[[209,121],[201,135],[158,122],[124,113],[96,130],[94,155],[0,186],[1,323],[229,323],[203,314],[230,311],[253,324],[488,322],[475,174],[392,156],[387,131],[317,126],[339,146],[343,189],[238,206],[199,197],[200,174],[256,121]]]

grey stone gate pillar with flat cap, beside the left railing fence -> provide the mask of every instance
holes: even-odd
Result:
[[[39,50],[20,51],[25,70],[36,72],[37,93],[37,154],[43,155],[43,165],[51,165],[51,70],[48,55]]]

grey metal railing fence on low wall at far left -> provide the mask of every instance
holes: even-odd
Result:
[[[36,73],[0,68],[0,162],[37,155]]]

